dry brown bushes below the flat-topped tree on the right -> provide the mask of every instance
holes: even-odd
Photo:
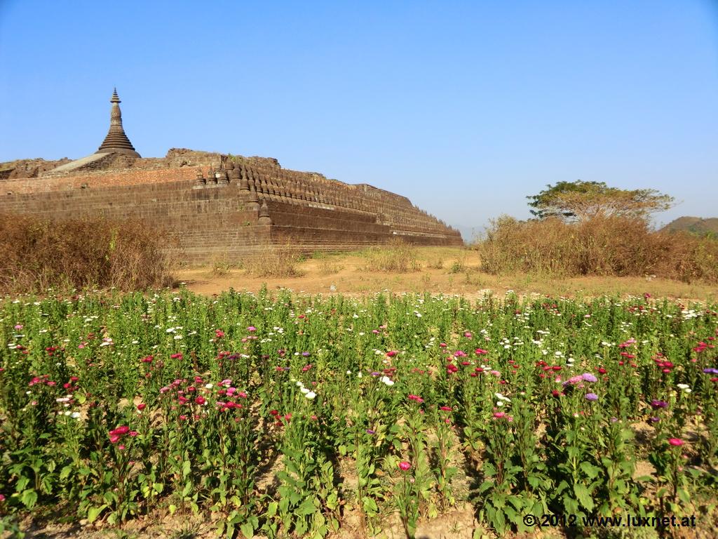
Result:
[[[494,221],[478,244],[482,270],[537,275],[660,275],[718,282],[718,242],[649,229],[640,218]]]

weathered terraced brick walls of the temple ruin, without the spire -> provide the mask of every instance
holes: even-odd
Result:
[[[169,231],[184,262],[236,260],[268,244],[303,251],[354,249],[399,236],[415,244],[458,245],[457,231],[415,208],[409,199],[369,185],[253,162],[248,186],[266,201],[271,226],[260,224],[249,190],[196,185],[208,167],[105,172],[3,180],[0,213],[40,218],[142,218]],[[11,194],[9,194],[11,193]]]

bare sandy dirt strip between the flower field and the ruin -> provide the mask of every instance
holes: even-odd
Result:
[[[176,272],[178,280],[197,293],[212,295],[225,290],[256,292],[262,285],[270,290],[288,288],[310,294],[340,293],[365,295],[390,292],[431,292],[477,298],[492,290],[503,295],[507,290],[518,294],[537,293],[567,297],[597,295],[643,295],[683,300],[718,300],[718,287],[685,283],[656,277],[572,277],[548,278],[533,275],[489,275],[480,271],[478,254],[470,249],[424,247],[416,249],[419,270],[405,273],[378,272],[368,269],[366,252],[322,254],[297,264],[299,277],[253,277],[245,270],[199,267]],[[221,275],[225,274],[225,275]]]

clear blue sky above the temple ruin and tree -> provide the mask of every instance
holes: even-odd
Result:
[[[718,0],[0,0],[0,161],[275,157],[460,227],[559,181],[718,216]]]

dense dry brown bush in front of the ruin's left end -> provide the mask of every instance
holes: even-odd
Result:
[[[0,215],[0,291],[172,285],[167,241],[136,220]]]

